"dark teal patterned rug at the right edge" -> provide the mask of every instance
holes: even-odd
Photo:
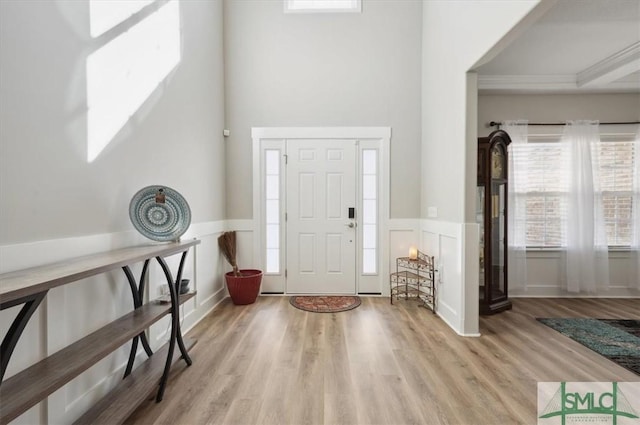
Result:
[[[538,321],[640,375],[640,320],[539,318]]]

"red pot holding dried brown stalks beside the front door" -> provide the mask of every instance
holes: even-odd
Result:
[[[262,270],[239,270],[236,262],[236,232],[224,232],[218,237],[218,246],[232,271],[225,273],[225,281],[231,301],[236,305],[253,304],[260,293]]]

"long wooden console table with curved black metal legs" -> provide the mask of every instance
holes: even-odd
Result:
[[[192,239],[123,248],[1,274],[0,310],[22,307],[0,347],[0,424],[17,418],[128,341],[132,341],[132,344],[123,381],[77,423],[123,422],[158,385],[156,401],[161,401],[171,365],[177,360],[177,356],[191,365],[188,349],[195,341],[185,341],[182,338],[179,307],[192,298],[194,293],[180,295],[179,286],[187,253],[199,243],[199,240]],[[165,258],[177,254],[181,258],[174,279]],[[143,303],[147,271],[154,258],[167,280],[170,304],[157,301]],[[139,262],[144,264],[140,278],[136,281],[129,266]],[[49,289],[119,268],[123,270],[131,289],[133,311],[4,379],[16,344]],[[154,353],[144,331],[168,314],[171,315],[171,337],[164,347]],[[138,343],[142,344],[149,358],[133,370]],[[176,344],[179,353],[175,353]]]

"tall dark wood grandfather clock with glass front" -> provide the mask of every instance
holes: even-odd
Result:
[[[476,218],[480,225],[480,314],[511,308],[507,285],[507,146],[502,130],[478,138]]]

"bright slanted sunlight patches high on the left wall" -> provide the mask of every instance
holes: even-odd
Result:
[[[138,7],[148,1],[136,2]],[[144,3],[144,4],[143,4]],[[141,5],[142,4],[142,5]],[[92,0],[98,10],[123,8],[113,16],[130,17],[128,2]],[[139,9],[138,9],[139,10]],[[105,12],[106,13],[106,12]],[[90,13],[94,19],[94,12]],[[98,18],[96,18],[98,19]],[[106,27],[101,23],[98,27]],[[115,24],[117,25],[117,24]],[[113,26],[113,25],[112,25]],[[93,22],[91,25],[93,33]],[[87,58],[87,161],[92,162],[180,62],[180,9],[172,0],[119,34]]]

